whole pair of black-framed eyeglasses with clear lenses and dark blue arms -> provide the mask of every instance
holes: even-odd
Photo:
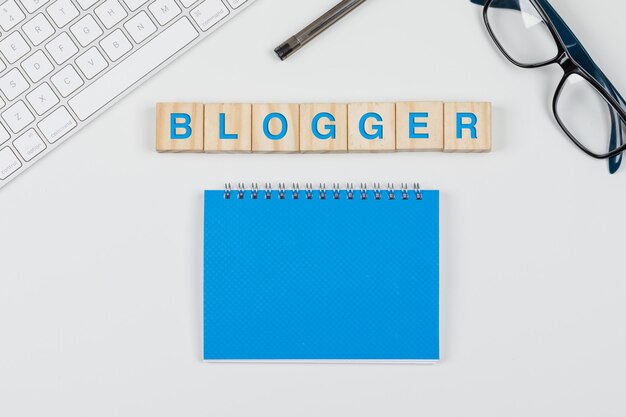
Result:
[[[558,64],[565,75],[552,110],[565,134],[586,154],[609,159],[617,172],[626,151],[626,100],[593,62],[547,0],[471,0],[484,5],[487,30],[521,68]]]

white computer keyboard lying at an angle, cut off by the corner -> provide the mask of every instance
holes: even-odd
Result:
[[[0,188],[254,0],[0,0]]]

